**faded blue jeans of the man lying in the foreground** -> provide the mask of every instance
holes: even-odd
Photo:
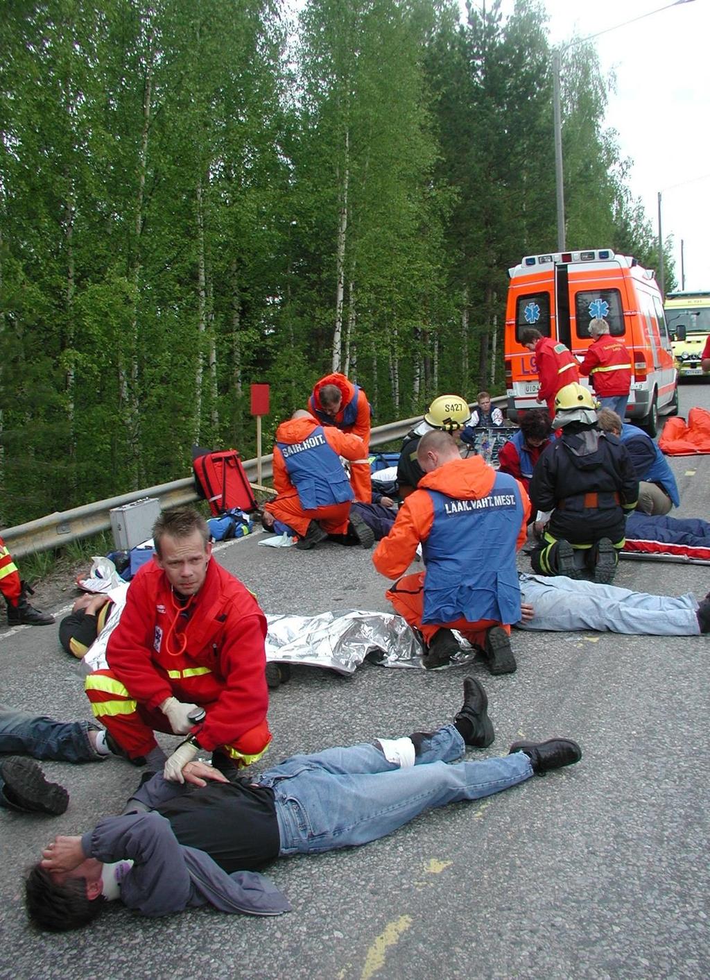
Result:
[[[318,854],[367,844],[425,809],[480,800],[530,779],[523,753],[464,761],[463,739],[446,725],[424,739],[416,763],[402,769],[374,745],[294,756],[258,777],[276,799],[281,855]]]

